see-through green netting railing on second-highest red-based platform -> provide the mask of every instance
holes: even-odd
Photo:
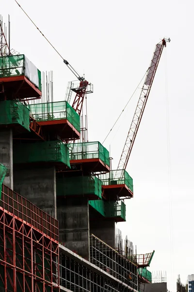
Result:
[[[80,116],[66,101],[32,104],[28,108],[37,122],[67,119],[80,132]]]

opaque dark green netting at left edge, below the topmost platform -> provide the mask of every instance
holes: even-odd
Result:
[[[19,101],[0,101],[0,125],[19,124],[30,131],[29,109]]]

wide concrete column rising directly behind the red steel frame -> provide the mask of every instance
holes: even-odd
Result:
[[[14,169],[14,191],[52,217],[57,217],[54,166]]]

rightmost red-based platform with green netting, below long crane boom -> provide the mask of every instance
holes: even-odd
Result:
[[[126,170],[112,170],[100,175],[102,197],[105,200],[123,200],[133,197],[133,180]]]

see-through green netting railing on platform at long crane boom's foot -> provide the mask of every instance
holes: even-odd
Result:
[[[133,192],[133,179],[129,176],[126,170],[112,170],[99,176],[99,179],[104,185],[110,184],[126,184]]]

